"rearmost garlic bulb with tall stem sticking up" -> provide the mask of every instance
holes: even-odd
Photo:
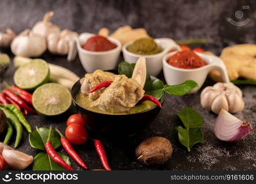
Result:
[[[37,22],[32,28],[33,33],[39,34],[45,38],[51,33],[60,33],[60,28],[50,22],[53,15],[53,12],[45,13],[43,20]]]

